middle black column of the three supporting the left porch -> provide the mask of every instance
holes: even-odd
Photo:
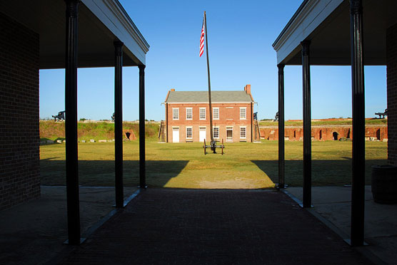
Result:
[[[116,207],[124,207],[123,191],[123,45],[114,42],[114,162]]]

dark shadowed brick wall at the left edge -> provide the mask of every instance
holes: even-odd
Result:
[[[40,196],[39,35],[0,12],[0,210]]]

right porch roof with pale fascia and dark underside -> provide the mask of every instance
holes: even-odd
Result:
[[[363,60],[386,65],[386,31],[397,24],[397,1],[363,1]],[[350,66],[350,4],[345,0],[304,0],[273,43],[277,63],[301,65],[301,41],[311,41],[310,64]]]

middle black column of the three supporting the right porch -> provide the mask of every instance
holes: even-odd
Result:
[[[310,41],[302,41],[303,78],[303,208],[311,207]]]

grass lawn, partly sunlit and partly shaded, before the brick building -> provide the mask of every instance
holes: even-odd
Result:
[[[149,187],[261,189],[278,182],[278,141],[228,143],[226,154],[203,155],[202,143],[146,141]],[[303,143],[286,142],[286,184],[303,183]],[[42,145],[41,184],[65,185],[65,145]],[[351,184],[351,142],[312,142],[313,185]],[[366,142],[366,184],[371,165],[385,164],[386,142]],[[114,143],[79,143],[79,182],[114,185]],[[124,142],[124,185],[139,183],[139,141]]]

